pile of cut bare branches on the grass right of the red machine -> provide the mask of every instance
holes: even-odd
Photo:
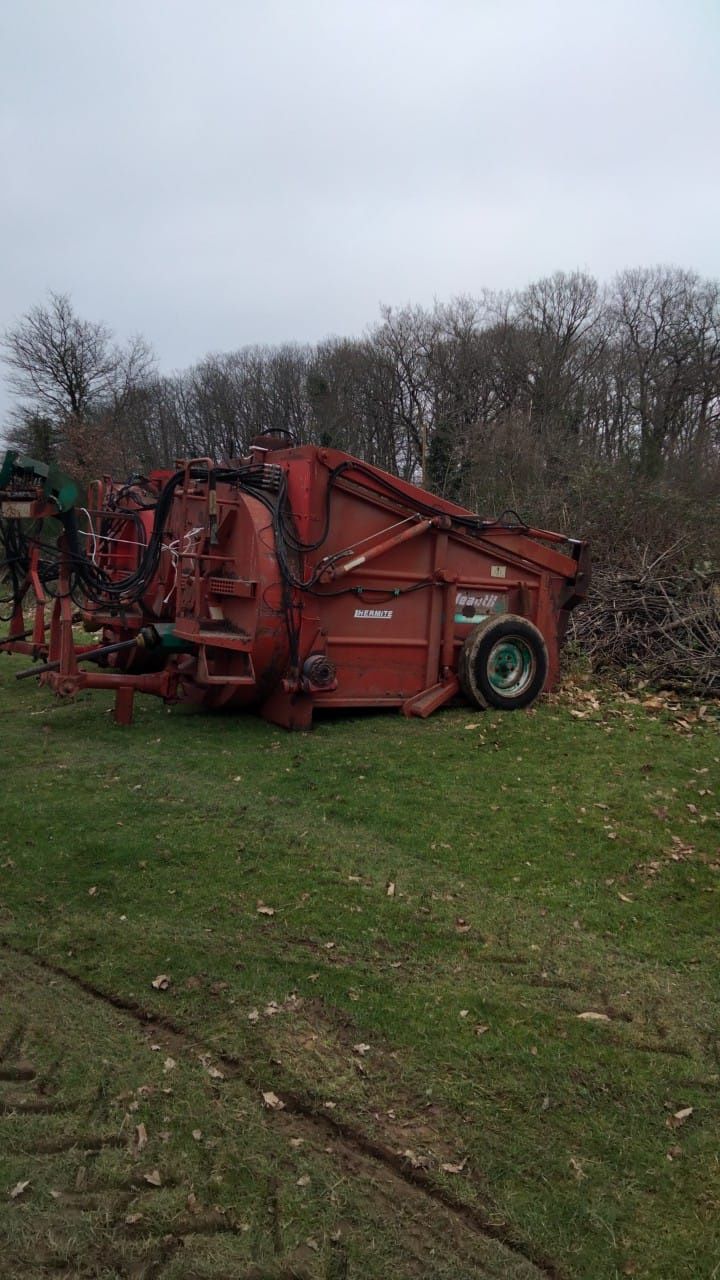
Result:
[[[673,571],[666,557],[646,561],[634,572],[597,568],[568,639],[598,672],[719,695],[720,571]]]

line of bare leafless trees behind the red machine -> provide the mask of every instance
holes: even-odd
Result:
[[[10,443],[81,479],[238,457],[265,430],[355,453],[601,554],[720,553],[720,284],[678,268],[601,285],[386,307],[360,338],[245,347],[164,375],[51,294],[8,330]]]

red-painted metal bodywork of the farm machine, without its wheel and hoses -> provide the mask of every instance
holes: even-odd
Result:
[[[264,460],[259,448],[247,461],[260,467]],[[182,465],[158,572],[142,600],[124,613],[86,614],[88,625],[102,625],[106,640],[172,623],[174,643],[187,652],[169,653],[161,669],[149,669],[132,649],[113,655],[104,669],[79,668],[92,646],[73,643],[69,561],[61,548],[47,646],[47,659],[58,666],[41,680],[63,695],[114,690],[119,723],[129,723],[135,692],[256,707],[293,728],[307,727],[324,707],[393,705],[425,717],[459,694],[457,655],[474,625],[459,613],[459,598],[470,598],[496,600],[539,628],[552,685],[568,612],[587,590],[584,544],[569,554],[561,549],[566,539],[548,530],[489,521],[470,529],[464,508],[338,451],[275,449],[272,465],[284,472],[293,522],[307,544],[320,538],[329,502],[327,538],[295,557],[297,577],[314,576],[311,590],[293,588],[288,598],[283,589],[261,494],[215,481],[213,461],[193,458]],[[161,475],[168,474],[158,475],[158,486]],[[100,539],[111,494],[104,483],[94,495]],[[147,534],[151,516],[141,509],[138,520]],[[140,543],[122,554],[108,541],[99,545],[104,568],[118,580],[141,553]],[[45,644],[37,559],[35,579],[33,643],[20,652],[37,655]],[[22,627],[18,604],[6,645],[24,645]]]

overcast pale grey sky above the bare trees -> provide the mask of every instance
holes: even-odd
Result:
[[[0,0],[0,329],[165,370],[380,302],[720,275],[720,0]]]

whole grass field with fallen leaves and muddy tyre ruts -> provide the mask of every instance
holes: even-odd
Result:
[[[716,708],[120,730],[23,664],[4,1276],[720,1276]]]

